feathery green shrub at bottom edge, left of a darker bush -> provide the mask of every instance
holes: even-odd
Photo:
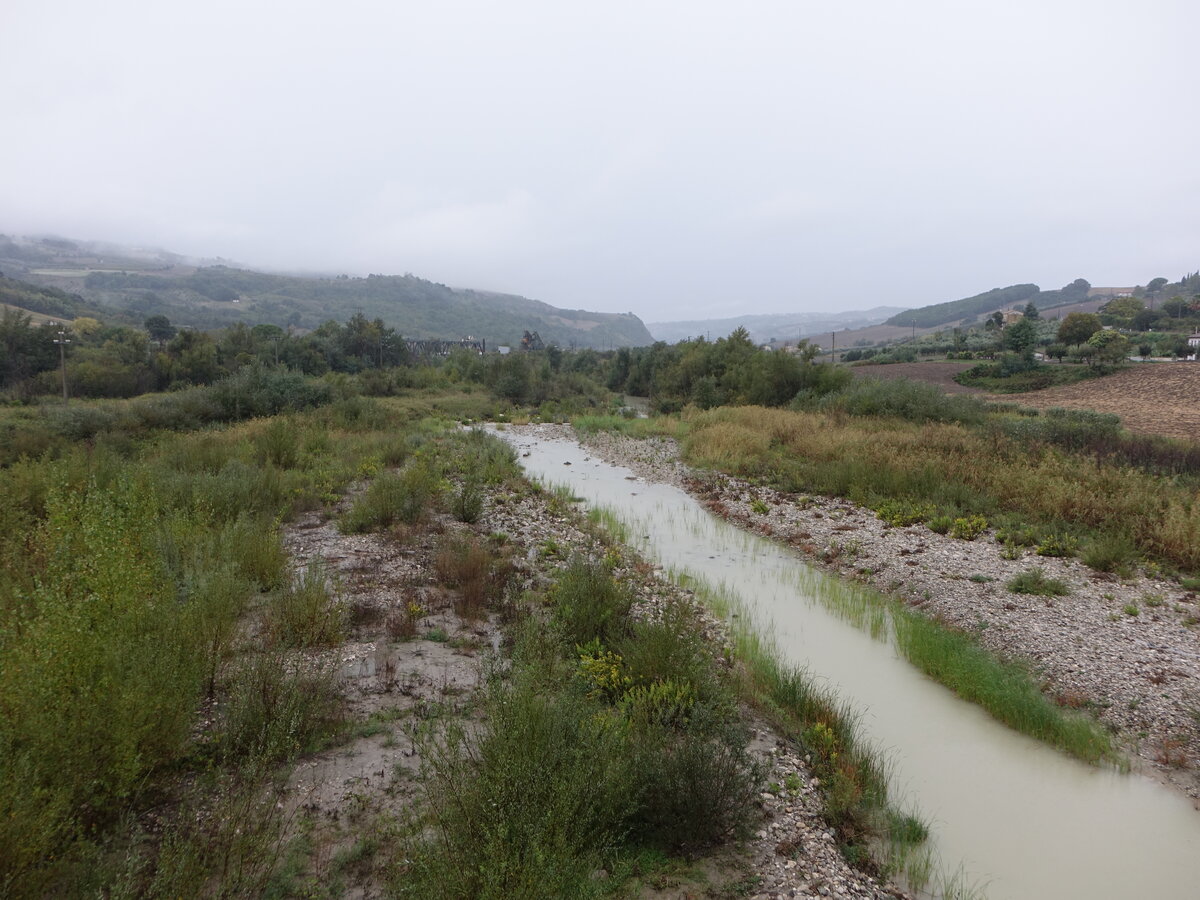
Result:
[[[588,898],[636,806],[628,739],[570,690],[517,671],[493,684],[487,728],[425,750],[433,840],[413,846],[400,896]]]

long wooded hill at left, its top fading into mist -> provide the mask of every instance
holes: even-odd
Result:
[[[138,322],[161,314],[176,325],[199,329],[238,322],[313,329],[361,312],[415,338],[470,335],[490,344],[515,344],[524,331],[536,331],[545,342],[562,347],[637,347],[654,341],[632,313],[562,310],[515,294],[451,288],[414,275],[283,275],[164,251],[2,235],[0,270],[64,295],[74,294],[82,304],[108,314]]]

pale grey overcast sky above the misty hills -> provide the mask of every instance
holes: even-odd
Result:
[[[1200,269],[1200,4],[0,2],[0,232],[647,322]]]

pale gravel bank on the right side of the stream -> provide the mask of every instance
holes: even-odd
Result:
[[[530,427],[550,437],[563,434],[564,426]],[[685,487],[713,511],[794,547],[812,565],[868,583],[974,635],[1001,656],[1028,662],[1048,696],[1090,709],[1140,768],[1193,802],[1200,797],[1194,593],[1145,572],[1117,578],[1075,559],[1006,548],[988,532],[965,541],[922,524],[888,527],[845,499],[798,497],[692,472],[666,438],[596,432],[580,439],[598,457],[642,478]],[[1031,569],[1063,581],[1068,593],[1048,598],[1007,588]]]

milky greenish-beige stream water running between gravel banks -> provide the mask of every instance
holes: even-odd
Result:
[[[1200,812],[1182,796],[1000,725],[829,612],[816,593],[832,576],[684,491],[570,440],[499,433],[527,473],[611,510],[648,559],[726,590],[787,661],[850,701],[895,796],[931,822],[943,876],[961,872],[991,900],[1200,896]]]

